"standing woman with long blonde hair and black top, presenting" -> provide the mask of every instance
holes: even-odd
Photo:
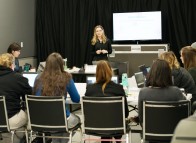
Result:
[[[112,46],[101,25],[95,26],[91,45],[93,61],[108,60],[108,54],[112,53]]]

